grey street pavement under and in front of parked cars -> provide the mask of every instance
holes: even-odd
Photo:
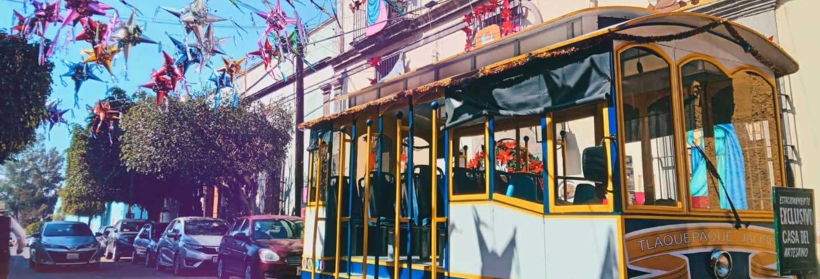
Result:
[[[14,254],[14,250],[11,250]],[[144,264],[132,265],[130,259],[123,259],[114,263],[110,259],[103,259],[98,271],[88,268],[55,268],[47,272],[37,273],[29,269],[29,251],[26,248],[22,255],[11,256],[11,271],[9,279],[153,279],[153,278],[185,278],[185,279],[213,279],[216,272],[190,272],[185,277],[174,277],[168,272],[157,272],[154,268],[146,268]]]

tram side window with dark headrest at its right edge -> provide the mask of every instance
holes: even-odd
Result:
[[[581,154],[604,137],[599,106],[581,106],[553,112],[555,138],[555,205],[605,205],[606,185],[587,180]]]

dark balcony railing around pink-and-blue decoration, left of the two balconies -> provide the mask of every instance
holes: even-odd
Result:
[[[418,15],[425,11],[419,9],[423,7],[422,0],[384,0],[387,5],[387,25],[385,29],[390,29],[391,26],[397,25],[400,22],[413,20]],[[362,6],[358,10],[353,11],[353,42],[362,41],[367,38],[365,29],[367,28],[367,0],[362,0]]]

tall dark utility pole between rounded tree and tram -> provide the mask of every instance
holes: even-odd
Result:
[[[304,46],[298,43],[296,47],[296,164],[294,165],[294,215],[302,215],[302,187],[304,187],[304,132],[298,128],[298,124],[304,122],[305,116],[305,85],[304,85],[304,65],[302,54]]]

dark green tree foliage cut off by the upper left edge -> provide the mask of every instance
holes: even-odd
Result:
[[[0,33],[0,163],[34,142],[53,68],[51,61],[39,65],[39,44]]]

